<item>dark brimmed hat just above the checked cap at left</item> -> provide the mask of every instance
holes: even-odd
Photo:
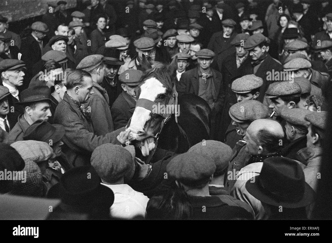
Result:
[[[64,126],[60,124],[50,124],[44,120],[37,120],[23,134],[24,140],[36,140],[49,143],[56,143],[64,135]]]

